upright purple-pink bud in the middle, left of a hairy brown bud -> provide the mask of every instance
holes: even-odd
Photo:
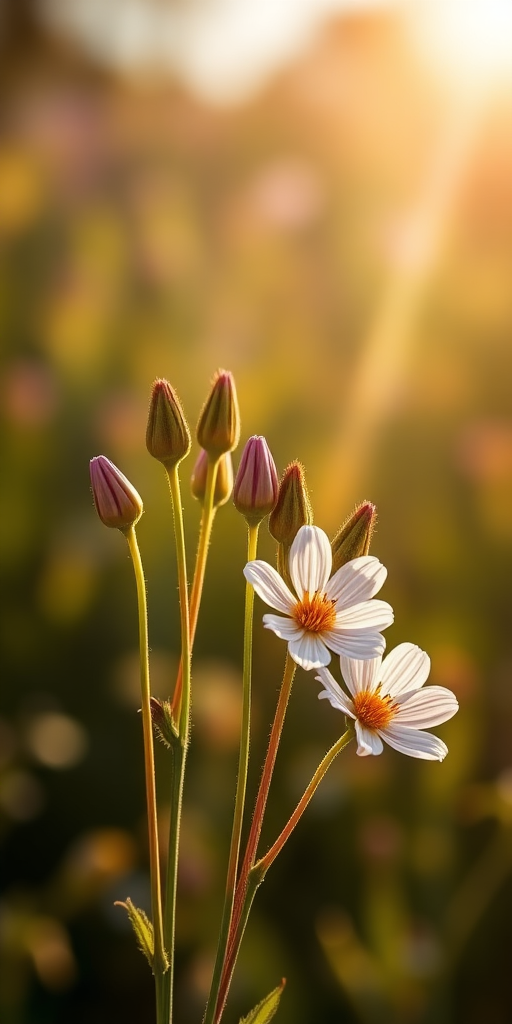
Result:
[[[265,438],[250,437],[234,480],[234,507],[254,525],[272,511],[278,492],[278,471]]]

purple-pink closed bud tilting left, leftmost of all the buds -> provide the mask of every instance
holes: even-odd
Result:
[[[104,455],[90,461],[96,512],[105,526],[126,530],[142,515],[142,499],[126,476]]]

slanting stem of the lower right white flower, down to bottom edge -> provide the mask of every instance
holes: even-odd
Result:
[[[229,990],[229,985],[231,983],[231,977],[234,970],[234,965],[237,963],[237,957],[239,955],[240,946],[242,944],[242,939],[244,937],[244,932],[246,929],[247,921],[249,918],[249,912],[252,906],[252,902],[259,885],[261,885],[270,864],[273,863],[279,853],[281,853],[285,843],[290,839],[292,831],[294,830],[297,822],[302,817],[311,797],[317,790],[324,775],[326,774],[328,768],[332,765],[334,759],[338,757],[338,754],[350,742],[353,736],[353,729],[349,728],[343,735],[334,743],[330,751],[326,754],[324,760],[318,765],[309,785],[304,791],[304,794],[297,804],[295,811],[285,825],[283,831],[275,840],[273,846],[270,847],[268,853],[264,857],[261,857],[255,864],[253,864],[248,872],[245,890],[243,893],[243,898],[240,905],[240,910],[237,921],[233,921],[233,930],[230,937],[229,946],[227,950],[227,956],[225,961],[225,967],[222,975],[222,982],[219,989],[219,995],[217,1000],[217,1012],[215,1016],[215,1024],[218,1024],[222,1016],[225,1001],[227,998],[227,993]]]

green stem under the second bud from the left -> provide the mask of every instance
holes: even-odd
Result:
[[[181,824],[181,805],[183,799],[186,751],[188,746],[188,720],[190,714],[190,627],[183,514],[181,509],[181,492],[179,486],[178,467],[166,467],[166,471],[171,492],[174,536],[176,540],[182,667],[182,692],[178,722],[179,735],[172,748],[169,849],[164,912],[165,939],[167,949],[169,951],[169,971],[165,978],[164,998],[167,1008],[167,1021],[170,1022],[172,1021],[173,1004],[174,937],[176,931],[176,889],[178,877],[179,831]]]

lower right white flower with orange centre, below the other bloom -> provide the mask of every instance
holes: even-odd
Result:
[[[355,719],[357,754],[381,754],[382,740],[400,754],[424,761],[442,761],[447,746],[423,729],[447,722],[459,710],[457,697],[444,686],[427,686],[430,658],[414,643],[400,643],[382,660],[354,662],[340,657],[341,673],[350,690],[348,696],[329,672],[316,676],[325,697],[333,708]]]

